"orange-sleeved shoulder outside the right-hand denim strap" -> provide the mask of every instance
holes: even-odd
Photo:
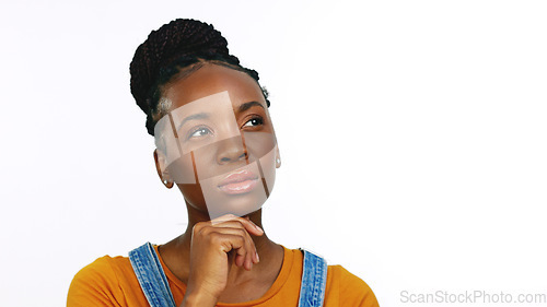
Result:
[[[340,306],[379,306],[371,287],[342,265],[328,265],[328,284],[337,290]]]

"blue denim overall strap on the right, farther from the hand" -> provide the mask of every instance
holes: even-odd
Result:
[[[299,307],[321,307],[327,285],[327,261],[311,251],[300,250],[304,253],[304,267]]]

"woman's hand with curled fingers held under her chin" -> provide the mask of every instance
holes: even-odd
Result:
[[[232,264],[247,271],[258,262],[251,235],[264,231],[247,219],[226,214],[194,225],[190,243],[190,272],[182,306],[214,306],[226,287]],[[198,302],[199,300],[199,302]],[[212,304],[212,305],[211,305]]]

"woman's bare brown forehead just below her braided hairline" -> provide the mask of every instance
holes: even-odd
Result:
[[[253,78],[217,64],[205,64],[190,75],[175,80],[165,90],[164,98],[171,101],[175,109],[220,92],[228,92],[234,106],[255,101],[266,107],[263,92]]]

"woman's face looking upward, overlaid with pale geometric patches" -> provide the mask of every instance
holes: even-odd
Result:
[[[274,188],[279,151],[256,81],[205,64],[170,83],[162,103],[171,104],[154,128],[162,179],[210,219],[258,210]]]

